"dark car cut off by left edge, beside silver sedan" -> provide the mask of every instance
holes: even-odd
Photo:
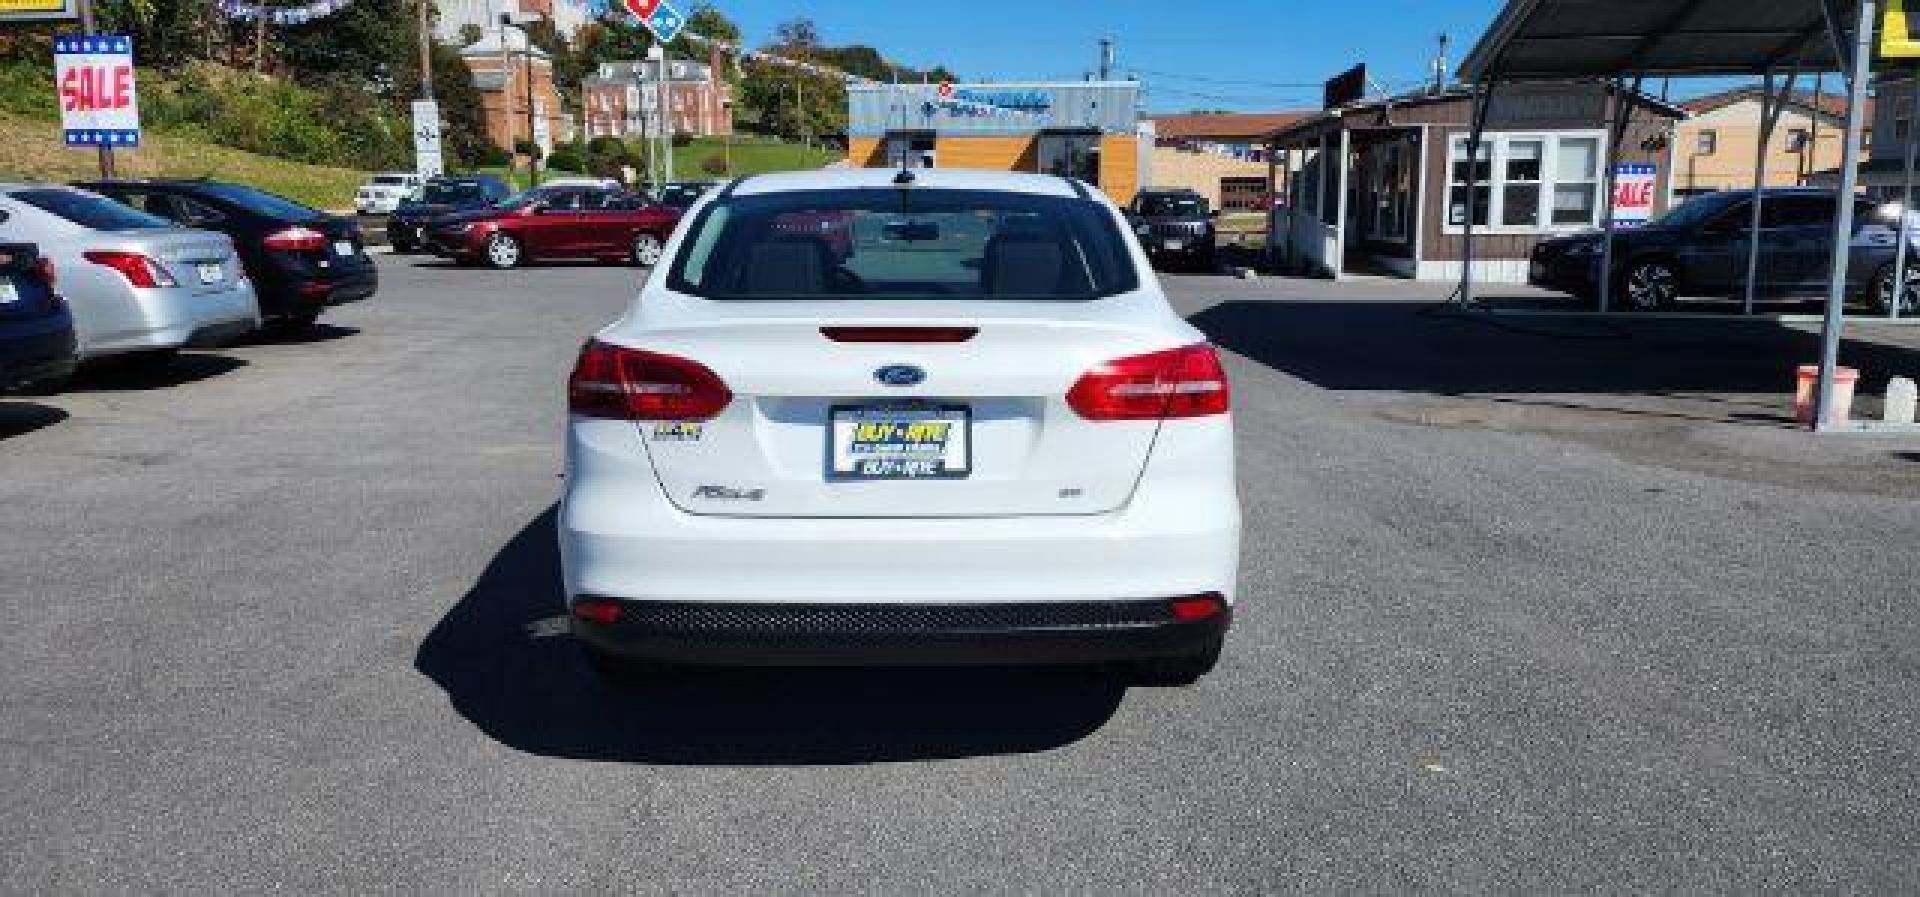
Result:
[[[0,392],[46,390],[73,375],[73,315],[54,282],[33,244],[0,244]]]

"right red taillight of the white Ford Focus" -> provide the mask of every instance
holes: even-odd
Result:
[[[1068,405],[1089,421],[1225,415],[1227,371],[1204,342],[1127,355],[1081,375],[1068,390]]]

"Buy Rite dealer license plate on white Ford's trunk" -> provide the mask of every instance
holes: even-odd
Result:
[[[966,405],[835,405],[828,473],[841,480],[939,480],[972,473]]]

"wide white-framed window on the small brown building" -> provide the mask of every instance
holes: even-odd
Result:
[[[1467,223],[1467,138],[1448,148],[1446,225]],[[1599,136],[1486,134],[1473,169],[1473,227],[1557,230],[1599,223]]]

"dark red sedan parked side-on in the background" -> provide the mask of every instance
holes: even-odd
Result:
[[[624,190],[541,186],[499,206],[459,211],[426,223],[436,254],[492,267],[540,259],[599,259],[653,267],[680,209],[649,206]]]

